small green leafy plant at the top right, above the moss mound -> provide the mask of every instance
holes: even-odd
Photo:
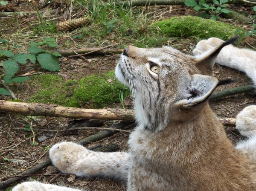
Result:
[[[228,0],[213,0],[213,4],[207,4],[205,0],[199,0],[197,3],[195,0],[186,0],[185,5],[189,7],[194,7],[196,11],[203,10],[199,16],[202,18],[210,18],[212,20],[220,19],[221,13],[229,13],[230,10],[225,9],[227,6],[224,3],[227,3]]]

